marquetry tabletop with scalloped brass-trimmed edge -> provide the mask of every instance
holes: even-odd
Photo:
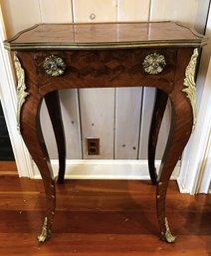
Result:
[[[206,38],[175,22],[38,24],[4,42],[10,50],[200,47]]]

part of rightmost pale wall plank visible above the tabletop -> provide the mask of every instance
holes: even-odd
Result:
[[[151,0],[150,21],[175,20],[193,25],[199,4],[198,0]]]

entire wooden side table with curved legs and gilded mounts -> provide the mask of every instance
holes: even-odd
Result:
[[[40,24],[22,31],[5,48],[14,52],[18,78],[18,128],[43,178],[47,211],[40,242],[53,224],[56,191],[40,127],[45,99],[59,151],[59,182],[65,174],[65,135],[58,90],[70,88],[155,87],[148,143],[151,181],[156,185],[161,237],[173,242],[165,215],[165,197],[173,168],[195,126],[195,70],[206,39],[173,22]],[[167,99],[171,128],[158,176],[154,157]]]

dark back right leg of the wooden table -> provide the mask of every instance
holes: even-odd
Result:
[[[159,129],[165,112],[168,96],[161,90],[156,90],[154,110],[148,138],[148,169],[152,184],[157,183],[156,168],[154,166],[155,150]]]

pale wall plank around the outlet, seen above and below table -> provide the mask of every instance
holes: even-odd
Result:
[[[75,22],[116,21],[116,0],[73,0]],[[113,158],[114,89],[80,90],[84,158]],[[86,137],[100,137],[101,155],[86,153]]]

